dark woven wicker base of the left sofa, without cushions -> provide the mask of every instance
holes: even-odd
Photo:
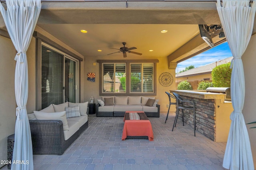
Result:
[[[60,120],[29,120],[33,154],[61,155],[88,127],[88,121],[68,140],[64,139]]]

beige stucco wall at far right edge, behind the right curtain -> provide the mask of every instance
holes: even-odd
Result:
[[[244,64],[244,77],[245,77],[245,100],[244,109],[242,113],[244,114],[245,123],[256,121],[256,34],[251,37],[250,43],[242,56],[242,61]],[[249,129],[253,125],[247,125],[250,143],[252,148],[252,155],[254,160],[254,167],[256,168],[256,129]],[[254,125],[256,126],[256,125]]]

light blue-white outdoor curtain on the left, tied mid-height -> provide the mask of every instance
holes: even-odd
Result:
[[[7,31],[18,53],[15,56],[16,125],[12,170],[33,170],[33,152],[26,104],[28,100],[28,63],[26,51],[41,10],[40,0],[6,0],[7,10],[0,3],[0,11]]]

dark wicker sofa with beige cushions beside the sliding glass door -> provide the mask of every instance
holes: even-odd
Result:
[[[28,114],[33,154],[63,154],[88,127],[88,102],[54,105]]]

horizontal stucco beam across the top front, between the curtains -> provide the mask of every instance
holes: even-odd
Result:
[[[197,4],[197,5],[195,5]],[[214,3],[213,3],[214,4]],[[43,3],[38,24],[218,24],[216,5],[176,2]]]

